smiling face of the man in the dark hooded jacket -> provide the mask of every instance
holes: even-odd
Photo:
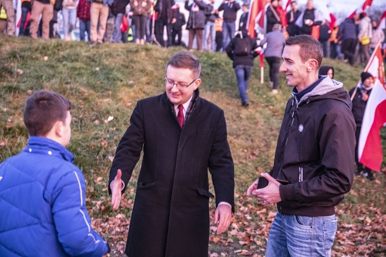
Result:
[[[301,91],[309,83],[309,72],[307,70],[307,64],[309,61],[304,62],[300,57],[300,46],[289,45],[285,46],[283,50],[283,63],[280,66],[280,72],[286,75],[287,84],[289,86],[296,86],[297,91]]]

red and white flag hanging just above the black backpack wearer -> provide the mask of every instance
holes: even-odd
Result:
[[[247,31],[251,38],[255,38],[255,23],[260,28],[264,28],[264,17],[266,16],[265,7],[270,0],[252,0],[249,5],[249,14],[247,19]]]

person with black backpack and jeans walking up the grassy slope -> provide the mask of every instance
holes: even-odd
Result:
[[[237,47],[243,46],[241,41],[247,43],[247,51],[238,52]],[[248,107],[249,100],[247,96],[249,77],[253,68],[253,59],[258,56],[254,51],[257,48],[256,40],[251,39],[247,31],[239,31],[225,48],[226,54],[233,61],[235,69],[237,86],[240,92],[241,106]]]

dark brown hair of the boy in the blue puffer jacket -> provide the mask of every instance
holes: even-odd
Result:
[[[31,136],[45,136],[58,120],[65,122],[71,102],[61,94],[39,90],[28,97],[24,107],[24,124]]]

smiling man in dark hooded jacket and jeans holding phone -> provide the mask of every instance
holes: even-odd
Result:
[[[282,57],[280,71],[294,87],[293,97],[285,109],[273,168],[247,193],[264,204],[277,204],[266,256],[329,256],[338,222],[335,206],[354,180],[352,102],[341,82],[318,77],[323,51],[312,36],[288,38]],[[261,177],[268,186],[257,187]]]

